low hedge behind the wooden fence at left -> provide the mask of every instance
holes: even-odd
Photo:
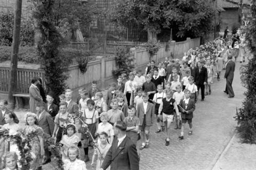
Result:
[[[0,46],[0,62],[11,60],[12,47],[10,46]],[[76,64],[76,58],[89,56],[89,60],[95,60],[95,57],[90,56],[89,52],[84,50],[77,50],[71,48],[60,49],[60,55],[65,63]],[[18,54],[18,61],[25,62],[28,64],[40,64],[40,58],[37,54],[36,47],[20,47]]]

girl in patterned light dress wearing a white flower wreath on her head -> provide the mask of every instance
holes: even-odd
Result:
[[[29,140],[31,153],[34,159],[30,163],[31,169],[42,169],[44,156],[43,129],[38,126],[38,117],[35,113],[28,112],[25,115],[26,126],[23,129],[23,137]]]

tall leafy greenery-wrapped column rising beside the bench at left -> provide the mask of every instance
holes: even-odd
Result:
[[[31,0],[33,17],[35,18],[42,38],[38,44],[41,67],[45,71],[46,92],[52,92],[55,101],[66,88],[63,61],[59,55],[62,41],[60,33],[53,24],[52,6],[54,0]]]

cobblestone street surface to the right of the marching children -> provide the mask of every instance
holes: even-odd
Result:
[[[165,133],[156,134],[156,125],[150,129],[149,148],[139,150],[140,169],[211,169],[214,166],[234,134],[236,122],[233,117],[236,107],[241,106],[244,98],[245,88],[241,86],[239,79],[240,66],[241,64],[236,63],[233,81],[235,98],[228,98],[223,93],[226,86],[226,79],[223,79],[225,71],[221,73],[221,81],[214,79],[210,96],[200,101],[199,94],[193,118],[193,135],[188,136],[187,125],[184,140],[180,141],[180,130],[174,130],[172,125],[170,146],[166,147]],[[140,144],[139,141],[138,148]],[[90,149],[90,158],[92,151]],[[86,163],[87,169],[95,169],[90,163]],[[54,163],[43,166],[43,169],[54,169]]]

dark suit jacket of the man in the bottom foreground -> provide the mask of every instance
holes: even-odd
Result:
[[[117,146],[117,138],[114,139],[107,155],[101,165],[104,170],[111,166],[111,170],[139,170],[139,157],[136,146],[127,136]]]

